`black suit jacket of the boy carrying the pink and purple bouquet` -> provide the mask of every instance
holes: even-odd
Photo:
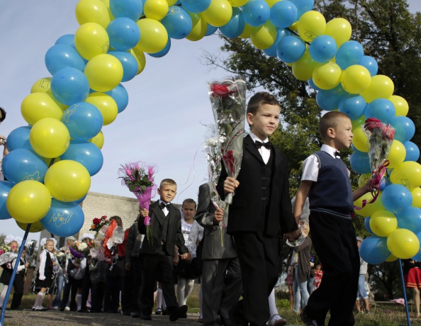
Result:
[[[167,252],[171,255],[174,255],[174,245],[179,248],[180,254],[186,254],[189,252],[189,249],[184,245],[183,233],[181,233],[181,213],[180,210],[174,207],[173,205],[169,206],[169,225],[167,232],[167,242],[165,243],[165,248]],[[147,240],[146,235],[146,225],[143,224],[143,219],[140,218],[137,227],[139,232],[142,235],[145,235],[145,238],[142,242],[142,247],[140,247],[141,254],[158,254],[161,252],[162,245],[162,227],[164,223],[165,215],[162,212],[162,209],[159,207],[159,201],[152,203],[149,208],[150,216],[150,227],[152,230],[152,243]]]

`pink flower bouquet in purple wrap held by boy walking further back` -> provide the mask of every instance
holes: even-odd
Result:
[[[119,178],[123,179],[121,184],[128,186],[128,189],[135,194],[142,209],[149,210],[150,200],[157,194],[157,185],[154,184],[156,172],[155,165],[140,161],[124,164],[118,169]],[[146,225],[147,240],[152,244],[150,217],[147,216],[143,223]]]

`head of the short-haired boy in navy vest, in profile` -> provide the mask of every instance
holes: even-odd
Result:
[[[354,137],[351,119],[338,111],[327,112],[320,118],[319,133],[325,144],[336,150],[349,148]]]

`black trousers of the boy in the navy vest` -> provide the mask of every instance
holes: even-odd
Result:
[[[330,326],[354,325],[359,278],[359,252],[351,219],[312,211],[311,240],[323,266],[319,288],[305,308],[309,317],[323,325],[330,310]]]

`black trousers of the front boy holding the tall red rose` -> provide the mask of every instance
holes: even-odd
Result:
[[[242,313],[250,325],[266,325],[270,318],[269,294],[278,280],[280,242],[262,232],[236,232],[234,235],[240,261]]]

